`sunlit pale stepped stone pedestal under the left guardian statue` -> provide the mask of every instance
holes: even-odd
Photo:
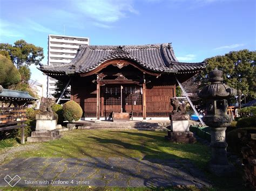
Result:
[[[50,112],[43,112],[36,115],[36,131],[31,133],[27,142],[46,142],[62,137],[56,130],[57,116]]]

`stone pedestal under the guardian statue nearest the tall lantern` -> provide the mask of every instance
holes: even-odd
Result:
[[[189,129],[189,118],[190,116],[185,114],[171,115],[171,128],[165,138],[173,143],[195,143],[196,138],[194,138],[193,133]]]

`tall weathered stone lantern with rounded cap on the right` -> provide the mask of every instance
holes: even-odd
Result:
[[[210,85],[198,92],[198,96],[206,101],[206,115],[203,121],[211,127],[210,172],[223,176],[234,171],[227,160],[226,127],[230,125],[232,116],[227,115],[227,99],[235,96],[237,90],[223,84],[223,72],[215,68],[209,73]]]

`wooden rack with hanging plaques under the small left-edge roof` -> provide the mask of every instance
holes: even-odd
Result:
[[[0,108],[0,131],[21,128],[21,143],[25,143],[26,108]]]

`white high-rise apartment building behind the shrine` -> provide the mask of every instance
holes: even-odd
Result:
[[[80,45],[89,45],[89,38],[49,34],[48,65],[69,63],[75,58]],[[56,81],[49,76],[47,77],[47,97],[51,97],[55,93]]]

